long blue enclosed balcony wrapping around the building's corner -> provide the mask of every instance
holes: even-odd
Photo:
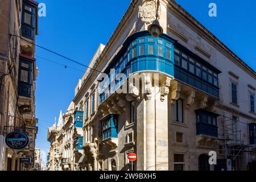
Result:
[[[175,49],[180,51],[178,56]],[[179,57],[178,65],[175,64],[177,57]],[[189,66],[192,67],[192,65],[193,73],[192,70],[189,72]],[[111,72],[111,69],[115,71]],[[197,69],[199,69],[200,75],[196,75]],[[124,73],[126,77],[129,77],[131,74],[141,71],[164,73],[216,98],[219,97],[218,74],[221,72],[217,68],[181,46],[177,40],[167,34],[153,38],[148,31],[141,31],[130,35],[125,40],[121,50],[105,69],[104,73],[108,74],[109,79],[101,82],[100,104],[125,81],[121,78],[115,79],[118,73]],[[106,90],[110,90],[110,93],[106,93]]]

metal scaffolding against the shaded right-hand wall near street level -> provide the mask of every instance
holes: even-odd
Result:
[[[251,154],[256,154],[256,146],[246,144],[246,137],[242,136],[242,130],[238,129],[239,124],[246,125],[247,131],[249,131],[249,124],[240,121],[240,116],[228,117],[223,111],[222,116],[222,131],[218,134],[218,140],[222,142],[224,148],[220,148],[221,154],[225,155],[225,159],[232,159],[237,161],[240,167],[246,166],[246,160],[244,159],[245,153],[248,153],[249,159]]]

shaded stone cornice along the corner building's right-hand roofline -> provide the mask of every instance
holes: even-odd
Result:
[[[222,43],[216,36],[212,34],[207,28],[205,28],[200,22],[198,22],[191,14],[185,11],[178,3],[174,0],[168,0],[169,6],[168,8],[175,9],[179,14],[174,13],[177,18],[184,18],[188,23],[192,24],[192,27],[199,31],[205,40],[207,40],[213,47],[215,47],[218,51],[223,53],[228,59],[232,60],[238,66],[242,65],[242,68],[245,69],[247,73],[256,78],[256,72],[249,67],[240,57],[238,57],[233,51],[231,51],[224,43]],[[181,17],[180,17],[181,15]],[[187,24],[188,25],[188,24]]]

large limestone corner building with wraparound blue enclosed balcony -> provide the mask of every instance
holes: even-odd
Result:
[[[155,7],[131,1],[76,86],[77,168],[130,170],[127,154],[135,152],[135,170],[255,169],[255,71],[175,1],[160,0],[163,34],[152,37]],[[126,83],[129,93],[115,92]]]

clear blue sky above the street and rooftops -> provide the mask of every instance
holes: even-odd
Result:
[[[87,65],[99,44],[108,42],[130,1],[38,1],[46,3],[47,16],[39,18],[36,44]],[[256,1],[176,2],[256,69]],[[217,4],[217,17],[208,16],[211,2]],[[36,82],[36,117],[39,118],[36,147],[47,152],[47,128],[53,124],[55,117],[59,117],[60,110],[64,112],[67,109],[85,68],[40,48],[36,48],[36,59],[39,67]]]

